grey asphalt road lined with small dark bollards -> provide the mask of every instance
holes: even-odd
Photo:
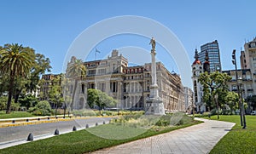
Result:
[[[86,119],[75,119],[73,121],[64,121],[57,123],[40,123],[25,126],[16,126],[9,128],[0,128],[0,145],[7,145],[11,142],[26,140],[28,134],[32,133],[34,138],[54,134],[58,128],[60,134],[73,131],[73,126],[77,129],[85,128],[86,124],[93,127],[102,124],[104,121],[108,123],[112,117],[90,117]]]

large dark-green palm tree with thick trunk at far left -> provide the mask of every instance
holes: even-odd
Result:
[[[15,77],[26,77],[32,68],[34,56],[32,48],[24,48],[18,43],[5,44],[0,51],[0,71],[9,74],[9,97],[6,113],[10,113],[11,100],[14,92]]]

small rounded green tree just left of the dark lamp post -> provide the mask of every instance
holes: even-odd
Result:
[[[238,94],[235,92],[228,92],[228,94],[225,96],[225,102],[228,106],[230,106],[231,114],[233,114],[233,111],[236,111],[238,108]]]

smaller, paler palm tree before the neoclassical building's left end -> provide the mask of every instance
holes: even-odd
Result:
[[[73,60],[67,65],[67,77],[74,81],[71,110],[75,100],[76,89],[80,80],[86,77],[86,67],[83,60],[78,60],[73,57]]]

